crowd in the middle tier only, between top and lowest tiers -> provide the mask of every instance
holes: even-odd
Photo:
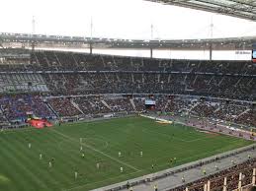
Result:
[[[177,94],[252,100],[256,79],[157,73],[43,74],[52,96],[87,94]],[[227,78],[227,79],[226,79]],[[237,85],[238,83],[238,85]]]

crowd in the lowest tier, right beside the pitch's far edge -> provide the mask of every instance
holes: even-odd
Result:
[[[113,112],[144,112],[145,99],[155,101],[152,111],[173,114],[194,115],[232,122],[246,126],[256,126],[255,104],[240,100],[209,99],[199,96],[0,96],[0,116],[2,121],[24,120],[32,112],[40,117],[70,117]]]

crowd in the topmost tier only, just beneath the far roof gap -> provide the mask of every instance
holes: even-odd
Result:
[[[73,68],[89,71],[178,71],[222,74],[256,72],[249,61],[170,60],[57,51],[37,51],[32,55],[32,60],[43,70]]]

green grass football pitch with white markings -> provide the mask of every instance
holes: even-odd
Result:
[[[0,190],[90,190],[251,143],[141,117],[5,131],[0,133]],[[171,158],[177,159],[172,165]]]

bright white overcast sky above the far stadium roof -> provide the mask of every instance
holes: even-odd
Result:
[[[143,0],[2,0],[0,32],[127,39],[256,35],[256,22]],[[153,32],[151,36],[151,25]]]

